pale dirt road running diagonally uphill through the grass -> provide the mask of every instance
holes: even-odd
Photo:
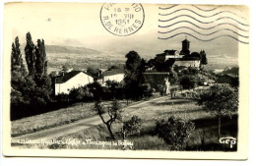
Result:
[[[158,102],[164,98],[168,98],[169,96],[163,96],[155,99],[151,99],[144,102],[139,102],[137,104],[130,105],[128,107],[125,107],[125,112],[132,111],[135,109],[139,109],[138,107],[142,107],[145,104],[149,104],[150,102]],[[106,116],[106,114],[104,115]],[[98,116],[94,116],[92,118],[87,118],[80,120],[78,122],[74,122],[65,126],[55,127],[47,130],[43,130],[40,132],[23,135],[20,137],[15,137],[13,139],[38,139],[38,140],[45,140],[45,139],[51,139],[51,138],[59,138],[66,135],[70,135],[73,133],[77,133],[79,131],[83,131],[85,129],[90,128],[91,126],[96,126],[101,124],[102,121]]]

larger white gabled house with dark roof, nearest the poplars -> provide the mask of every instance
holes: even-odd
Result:
[[[63,73],[55,78],[55,95],[60,93],[68,94],[72,88],[94,83],[94,78],[83,71],[71,71]]]

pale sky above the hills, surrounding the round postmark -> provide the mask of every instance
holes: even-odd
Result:
[[[16,36],[19,36],[20,42],[25,43],[26,33],[30,31],[34,42],[37,38],[43,38],[47,45],[87,47],[117,56],[123,56],[124,53],[135,50],[141,56],[154,57],[165,49],[181,50],[181,41],[187,38],[190,40],[192,52],[204,49],[211,58],[219,59],[219,61],[224,59],[234,63],[237,62],[238,49],[247,48],[249,45],[248,43],[239,43],[228,36],[211,40],[218,35],[229,34],[234,38],[249,42],[248,32],[244,31],[244,29],[248,30],[249,26],[243,26],[248,25],[249,22],[248,9],[243,6],[197,6],[198,8],[196,8],[187,5],[143,4],[144,25],[137,32],[128,36],[114,35],[102,26],[99,17],[101,6],[102,4],[84,3],[7,4],[4,12],[5,40],[13,41]],[[170,13],[172,14],[167,15]],[[171,21],[159,21],[169,19]],[[177,24],[178,22],[190,22],[194,26],[188,23]],[[231,25],[224,25],[224,23],[231,23]],[[222,26],[218,26],[220,24]],[[169,25],[172,26],[168,27]],[[170,33],[159,33],[159,31],[164,32],[175,28],[179,29]],[[224,30],[226,28],[245,37],[239,37],[230,30]],[[178,33],[182,34],[167,38]],[[167,39],[159,39],[159,37]],[[209,41],[202,41],[202,39]]]

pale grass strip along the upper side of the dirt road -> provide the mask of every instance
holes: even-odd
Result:
[[[123,106],[127,105],[127,101],[120,101]],[[109,105],[110,101],[104,101],[105,105]],[[129,100],[129,105],[134,102]],[[90,118],[96,113],[93,111],[94,103],[76,103],[66,108],[61,108],[56,111],[35,115],[32,117],[23,118],[12,121],[11,136],[18,137],[45,129],[54,128],[76,122],[84,118]]]

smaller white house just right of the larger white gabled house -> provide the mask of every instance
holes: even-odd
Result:
[[[105,85],[106,81],[114,81],[117,83],[122,82],[124,79],[124,69],[110,68],[102,73],[102,85]]]

